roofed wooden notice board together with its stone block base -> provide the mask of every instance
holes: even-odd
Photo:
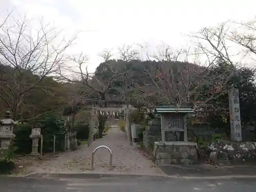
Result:
[[[193,109],[190,106],[175,105],[156,106],[155,109],[161,117],[162,133],[162,141],[154,142],[156,164],[197,163],[197,143],[187,141],[187,117],[194,113]],[[176,139],[166,141],[166,132],[172,132]]]

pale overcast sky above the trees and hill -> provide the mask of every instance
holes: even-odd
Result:
[[[252,19],[255,7],[253,0],[0,0],[0,16],[15,8],[28,17],[43,16],[69,34],[83,31],[72,54],[87,53],[93,69],[102,50],[161,41],[181,47],[182,34],[228,19]]]

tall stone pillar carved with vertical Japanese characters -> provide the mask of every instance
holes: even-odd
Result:
[[[230,139],[231,141],[242,141],[239,90],[231,88],[228,90],[229,114],[230,114]]]

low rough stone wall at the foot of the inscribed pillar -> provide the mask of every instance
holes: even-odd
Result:
[[[205,156],[219,165],[256,163],[256,142],[211,143],[205,150]]]

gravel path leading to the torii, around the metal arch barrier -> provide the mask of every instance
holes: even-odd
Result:
[[[142,155],[135,146],[130,146],[118,127],[109,130],[108,135],[95,140],[90,147],[79,146],[79,150],[58,154],[58,157],[25,167],[24,174],[33,173],[91,173],[91,155],[95,147],[106,145],[113,153],[113,170],[109,170],[110,154],[100,148],[94,156],[95,173],[122,173],[139,175],[163,175],[163,172]]]

